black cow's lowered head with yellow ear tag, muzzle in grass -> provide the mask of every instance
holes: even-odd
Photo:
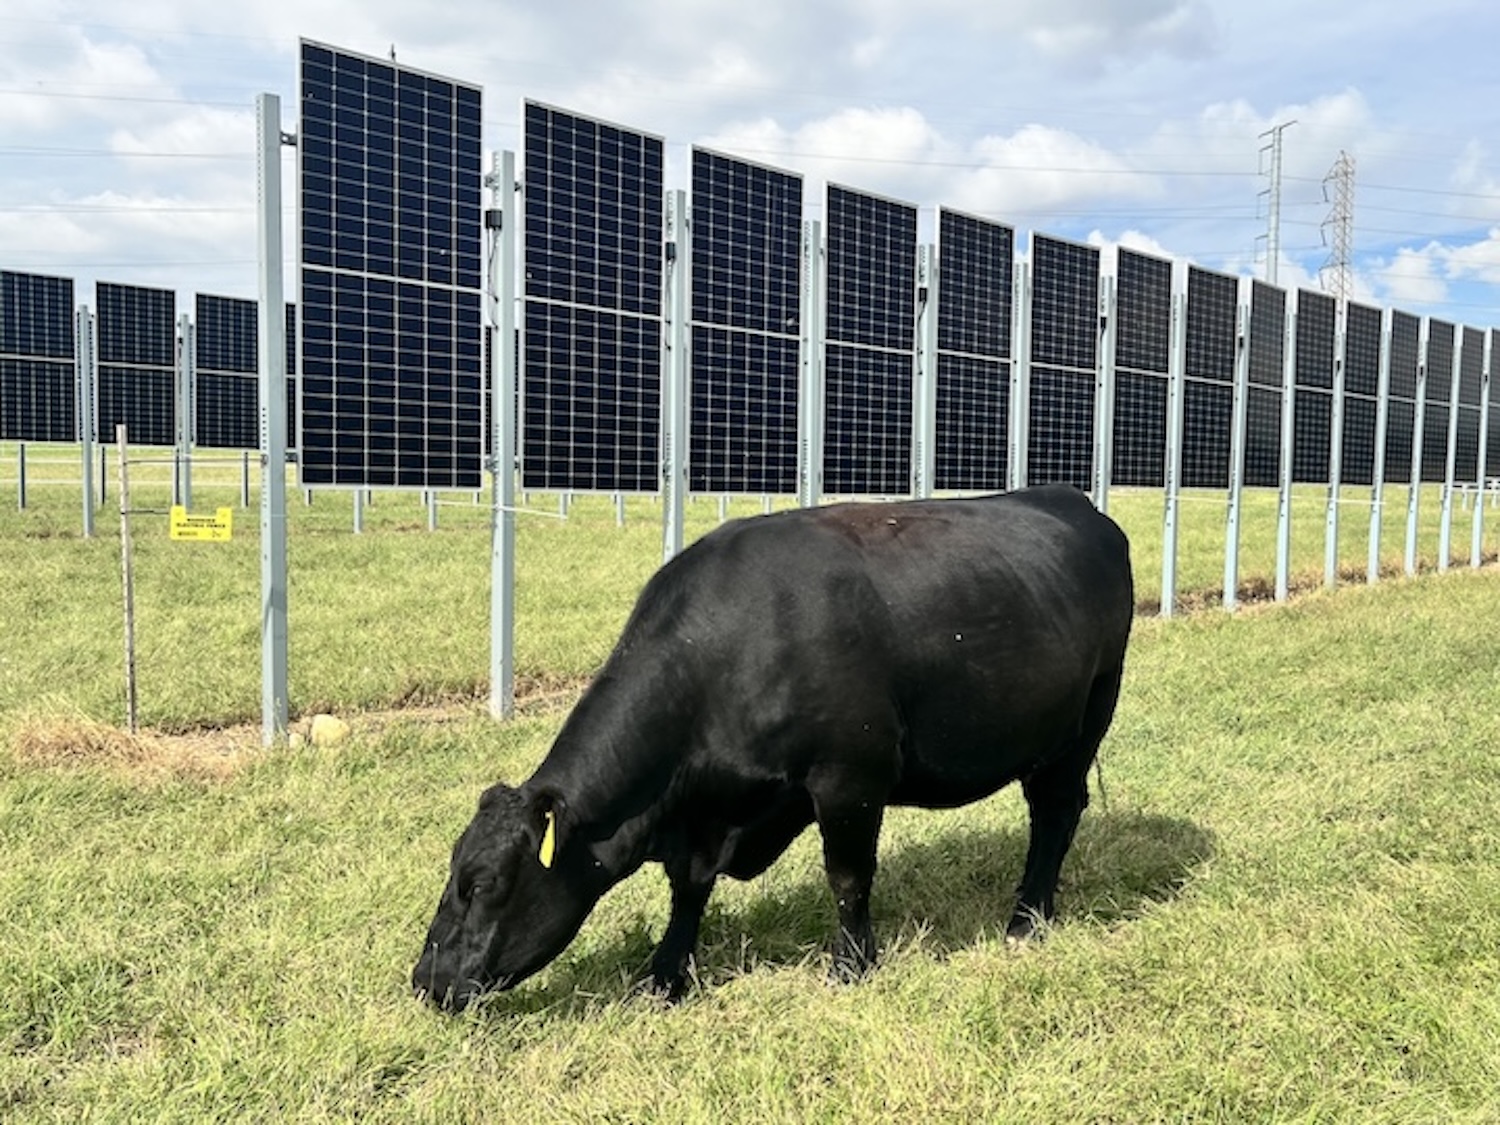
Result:
[[[566,848],[562,802],[496,784],[453,846],[448,885],[411,972],[450,1011],[508,988],[567,946],[598,900],[584,848]]]

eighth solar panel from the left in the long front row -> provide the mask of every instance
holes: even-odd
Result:
[[[1182,484],[1228,488],[1239,280],[1188,267]]]

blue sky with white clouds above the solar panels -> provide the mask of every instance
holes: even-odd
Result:
[[[1500,327],[1494,0],[6,0],[0,268],[254,297],[255,99],[297,129],[315,39],[690,147],[1101,246]],[[294,200],[286,158],[286,200]],[[524,176],[524,171],[522,171]],[[292,252],[288,212],[288,260]],[[288,261],[288,294],[296,292]]]

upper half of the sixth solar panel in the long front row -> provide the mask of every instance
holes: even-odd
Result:
[[[1100,250],[1032,236],[1032,363],[1095,369],[1100,346]]]

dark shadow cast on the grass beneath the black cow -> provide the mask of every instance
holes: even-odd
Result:
[[[920,936],[924,950],[946,956],[1002,934],[1014,909],[1026,838],[1023,826],[954,828],[916,843],[882,844],[873,903],[882,950]],[[1110,926],[1130,920],[1150,903],[1173,898],[1212,854],[1212,836],[1191,820],[1090,812],[1064,864],[1058,922]],[[825,954],[836,924],[832,897],[820,876],[752,892],[747,904],[710,902],[698,950],[699,980],[712,988],[756,966],[814,960]],[[480,1018],[582,1012],[592,1002],[622,999],[645,978],[664,927],[664,916],[642,918],[588,952],[564,954],[544,978],[488,998]]]

